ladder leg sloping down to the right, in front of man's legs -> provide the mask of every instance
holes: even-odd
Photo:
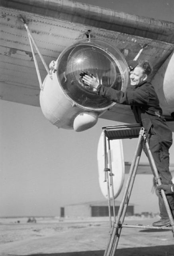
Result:
[[[158,185],[161,185],[162,182],[161,182],[161,179],[160,179],[160,176],[159,176],[159,173],[158,173],[158,170],[156,168],[156,164],[154,162],[154,158],[152,156],[152,153],[151,153],[151,150],[149,149],[149,143],[146,139],[146,135],[144,134],[143,136],[143,140],[145,142],[145,148],[146,148],[146,152],[147,152],[147,157],[149,158],[149,163],[151,164],[151,168],[153,169],[154,171],[154,174],[155,174],[155,178],[157,180],[157,183]],[[173,219],[173,216],[172,216],[172,212],[170,210],[170,206],[168,204],[168,200],[166,198],[166,194],[164,193],[164,190],[161,190],[161,194],[162,194],[162,199],[164,201],[164,205],[166,207],[166,211],[168,213],[168,217],[169,217],[169,220],[170,220],[170,224],[172,226],[172,232],[174,233],[174,219]]]

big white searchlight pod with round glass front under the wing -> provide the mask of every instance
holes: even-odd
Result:
[[[100,84],[117,90],[125,91],[129,81],[127,63],[117,48],[96,38],[73,44],[55,61],[52,79],[45,78],[40,93],[41,109],[52,124],[65,129],[76,126],[76,130],[86,130],[115,104],[84,84],[83,72],[96,76]],[[91,122],[92,118],[81,118],[80,113],[85,112],[96,117],[94,122]],[[74,124],[79,115],[80,122]]]

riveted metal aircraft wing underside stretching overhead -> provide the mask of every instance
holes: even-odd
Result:
[[[22,15],[47,65],[74,42],[106,40],[133,59],[143,45],[143,59],[154,67],[151,79],[174,50],[174,23],[125,14],[68,0],[1,0],[0,98],[39,106],[39,82]],[[38,57],[38,55],[36,54]],[[37,58],[42,80],[47,75]],[[129,106],[113,107],[102,118],[135,123]],[[119,116],[119,118],[118,118]],[[126,119],[125,119],[126,118]]]

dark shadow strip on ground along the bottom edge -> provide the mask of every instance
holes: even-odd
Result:
[[[51,254],[28,254],[27,256],[103,256],[104,250],[86,252],[61,252]],[[117,249],[117,256],[174,256],[174,245],[148,246]],[[26,255],[25,255],[26,256]]]

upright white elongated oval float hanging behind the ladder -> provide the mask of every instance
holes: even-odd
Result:
[[[108,153],[108,143],[107,144],[107,153]],[[110,140],[110,150],[111,150],[111,166],[108,165],[108,168],[112,170],[114,174],[113,177],[113,192],[114,198],[116,198],[121,192],[123,186],[124,175],[125,175],[125,165],[123,157],[123,145],[122,140]],[[108,198],[108,187],[107,182],[104,182],[105,172],[104,172],[104,134],[100,135],[98,142],[98,151],[97,151],[97,160],[98,160],[98,178],[100,189],[105,198]],[[108,160],[109,163],[109,160]],[[112,198],[112,189],[110,186],[110,176],[109,176],[109,196]]]

